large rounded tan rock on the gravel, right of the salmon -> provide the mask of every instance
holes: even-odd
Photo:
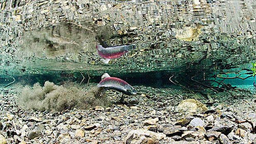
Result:
[[[208,108],[203,105],[201,102],[195,99],[187,99],[181,101],[181,103],[176,107],[176,112],[192,112],[196,113],[196,111],[206,111]]]

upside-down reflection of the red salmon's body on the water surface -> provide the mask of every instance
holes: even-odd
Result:
[[[113,59],[123,56],[130,50],[135,49],[135,45],[122,45],[122,46],[111,46],[104,48],[103,46],[97,44],[96,49],[102,58]]]

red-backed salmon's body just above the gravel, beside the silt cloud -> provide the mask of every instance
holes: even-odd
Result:
[[[107,77],[105,79],[102,79],[99,82],[98,87],[116,90],[126,95],[135,95],[137,93],[137,91],[135,91],[135,89],[130,86],[126,81],[116,77]]]

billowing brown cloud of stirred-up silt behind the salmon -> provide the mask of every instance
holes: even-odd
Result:
[[[17,105],[24,110],[64,111],[67,109],[89,109],[97,105],[108,106],[109,100],[97,87],[79,88],[78,85],[57,86],[46,81],[32,88],[24,86],[17,95]]]

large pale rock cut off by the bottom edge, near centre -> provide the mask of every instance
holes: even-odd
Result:
[[[157,144],[166,135],[149,130],[131,130],[125,139],[125,144]]]

